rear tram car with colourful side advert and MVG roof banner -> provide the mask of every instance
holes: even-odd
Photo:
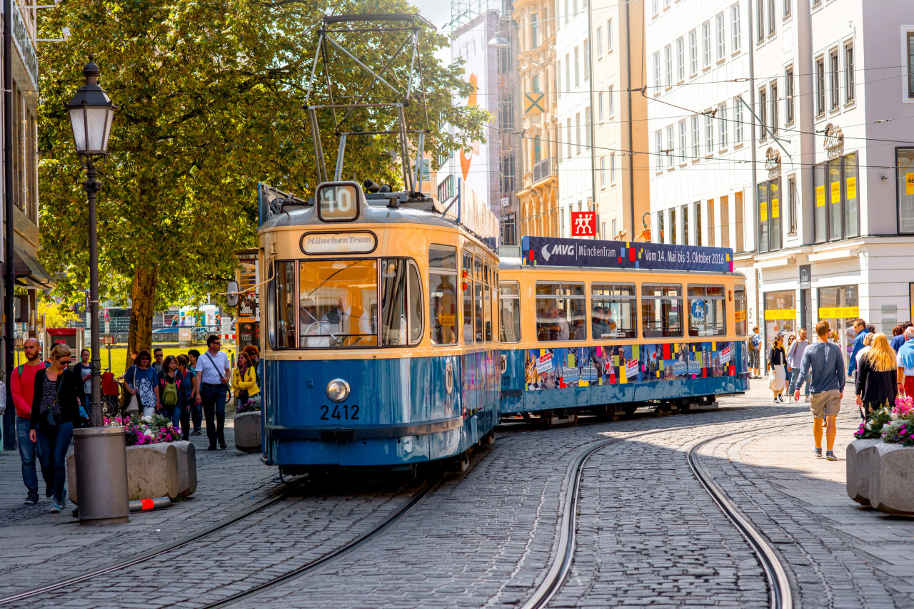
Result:
[[[502,414],[617,416],[749,389],[732,251],[525,236],[502,258]]]

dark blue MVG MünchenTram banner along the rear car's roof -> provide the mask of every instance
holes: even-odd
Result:
[[[728,247],[524,236],[521,257],[528,266],[733,272],[733,250]]]

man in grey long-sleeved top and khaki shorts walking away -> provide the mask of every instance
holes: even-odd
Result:
[[[807,383],[813,398],[809,409],[813,411],[813,453],[822,457],[822,419],[825,419],[825,439],[828,449],[825,458],[837,461],[834,456],[834,419],[841,412],[841,398],[845,395],[845,358],[841,347],[828,341],[828,321],[815,324],[818,341],[806,348],[800,362],[799,380],[793,389],[793,399],[800,400],[800,385]]]

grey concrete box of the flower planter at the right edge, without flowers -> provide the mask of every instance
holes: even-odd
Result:
[[[912,483],[914,447],[881,440],[855,440],[847,447],[847,494],[851,499],[887,514],[914,516]]]

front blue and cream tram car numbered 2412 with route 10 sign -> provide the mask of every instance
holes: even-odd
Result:
[[[499,421],[494,215],[354,182],[320,184],[316,205],[276,194],[261,186],[261,458],[465,463]]]

